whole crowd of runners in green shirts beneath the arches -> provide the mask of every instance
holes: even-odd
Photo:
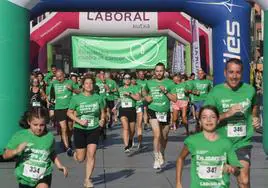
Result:
[[[229,174],[240,188],[250,187],[251,138],[259,128],[255,89],[242,82],[243,64],[226,63],[226,81],[213,87],[203,70],[197,75],[168,74],[158,63],[154,70],[116,72],[93,70],[66,75],[56,66],[45,76],[30,77],[29,110],[8,142],[4,159],[16,157],[16,178],[21,188],[51,186],[52,163],[67,176],[68,169],[55,151],[55,139],[75,161],[85,163],[84,187],[91,180],[99,139],[121,125],[122,152],[146,149],[143,131],[153,134],[152,167],[165,165],[170,131],[185,129],[186,139],[177,159],[176,187],[181,184],[183,161],[191,155],[191,188],[229,187]],[[189,120],[195,129],[189,129]],[[134,147],[134,137],[137,146]]]

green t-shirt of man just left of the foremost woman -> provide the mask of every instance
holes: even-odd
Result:
[[[73,92],[67,89],[67,85],[74,88],[74,83],[71,80],[64,80],[63,82],[55,80],[53,82],[56,96],[55,110],[67,109],[69,107]]]

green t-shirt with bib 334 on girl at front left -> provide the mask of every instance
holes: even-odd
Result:
[[[15,175],[19,183],[35,186],[40,179],[52,173],[51,154],[55,152],[55,140],[50,132],[36,136],[30,129],[24,129],[15,133],[6,149],[14,150],[23,142],[28,144],[18,155]]]

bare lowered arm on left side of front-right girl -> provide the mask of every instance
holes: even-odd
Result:
[[[190,152],[189,152],[188,148],[186,146],[184,146],[182,148],[180,156],[177,159],[177,163],[176,163],[176,188],[182,188],[182,184],[181,184],[182,169],[183,169],[183,165],[184,165],[184,160],[189,153]]]

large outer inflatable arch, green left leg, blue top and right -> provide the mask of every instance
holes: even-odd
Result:
[[[265,10],[267,0],[256,0]],[[246,0],[7,0],[0,1],[0,149],[18,127],[27,106],[29,65],[29,20],[46,11],[183,11],[213,29],[214,83],[224,81],[224,63],[240,58],[244,63],[244,81],[249,81],[250,9]],[[268,20],[267,11],[265,12]],[[267,29],[267,24],[265,29]],[[266,34],[267,35],[267,34]],[[265,39],[268,40],[267,36]],[[267,46],[265,52],[268,53]],[[265,54],[265,53],[264,53]],[[266,57],[264,57],[266,61]],[[265,70],[264,70],[265,71]],[[12,82],[6,81],[12,76]],[[268,75],[264,80],[268,79]],[[266,85],[264,84],[266,90]],[[265,98],[265,97],[264,97]],[[265,106],[268,105],[265,101]],[[265,127],[264,149],[268,152]]]

